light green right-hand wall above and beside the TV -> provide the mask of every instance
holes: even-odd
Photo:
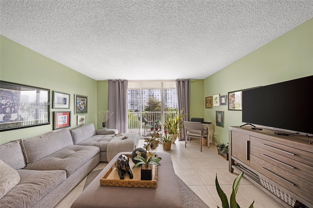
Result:
[[[313,75],[313,19],[269,42],[204,80],[204,97],[280,83]],[[204,109],[216,124],[215,111],[224,111],[224,128],[215,126],[213,141],[228,143],[228,127],[242,125],[242,112],[227,106]]]

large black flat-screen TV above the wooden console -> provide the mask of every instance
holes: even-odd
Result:
[[[313,76],[247,89],[242,121],[313,134]]]

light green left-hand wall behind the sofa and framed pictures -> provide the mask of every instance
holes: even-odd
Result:
[[[74,94],[88,96],[86,124],[96,125],[97,82],[77,71],[13,42],[0,37],[0,79],[1,81],[26,84],[50,89],[50,102],[53,91],[70,94],[71,127],[77,126],[74,114]],[[55,109],[51,109],[55,111]],[[58,109],[57,111],[67,111]],[[28,138],[51,132],[53,113],[50,113],[50,125],[35,126],[0,132],[0,144],[11,140]]]

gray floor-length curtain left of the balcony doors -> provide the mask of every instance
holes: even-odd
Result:
[[[127,133],[127,80],[109,80],[108,110],[113,112],[108,123],[119,133]]]

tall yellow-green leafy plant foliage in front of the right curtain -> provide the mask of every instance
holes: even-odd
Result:
[[[181,129],[184,127],[184,117],[187,114],[183,113],[184,109],[178,113],[171,111],[168,116],[166,116],[164,120],[164,128],[166,128],[166,133],[173,138],[172,143],[174,143],[181,132]]]

